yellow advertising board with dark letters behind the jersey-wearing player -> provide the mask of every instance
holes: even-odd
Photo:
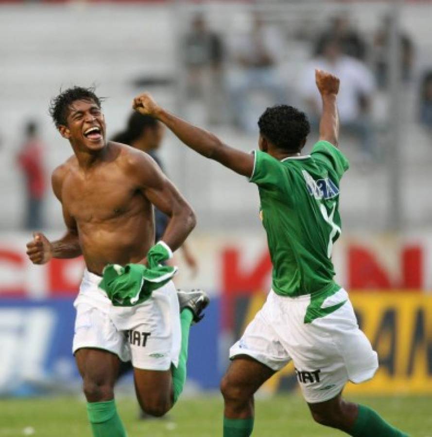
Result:
[[[349,383],[348,394],[432,394],[432,295],[418,291],[351,292],[359,324],[378,352],[380,368],[363,384]],[[254,296],[245,321],[264,303]],[[297,389],[291,363],[264,386],[265,390]]]

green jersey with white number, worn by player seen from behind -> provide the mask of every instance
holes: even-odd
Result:
[[[332,292],[331,252],[341,235],[339,182],[346,157],[327,141],[308,156],[278,161],[255,151],[250,181],[258,185],[261,218],[273,264],[273,290],[282,296]]]

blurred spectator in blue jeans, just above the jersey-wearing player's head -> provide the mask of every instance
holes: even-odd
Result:
[[[238,37],[234,46],[236,61],[242,69],[232,84],[234,117],[243,130],[254,131],[257,120],[249,111],[250,91],[266,92],[270,95],[271,104],[286,101],[286,88],[277,72],[285,43],[277,29],[264,24],[257,13],[253,16],[251,32]]]

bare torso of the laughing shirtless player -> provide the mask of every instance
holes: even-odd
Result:
[[[84,171],[73,156],[64,164],[63,208],[76,221],[87,269],[141,261],[154,244],[153,206],[127,161],[128,146],[108,143],[101,162]]]

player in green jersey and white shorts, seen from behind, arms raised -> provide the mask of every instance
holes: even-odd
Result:
[[[348,161],[339,149],[339,79],[316,71],[322,96],[320,140],[300,155],[310,126],[306,115],[281,105],[259,118],[259,150],[244,153],[158,107],[148,94],[134,107],[162,121],[191,149],[258,185],[261,215],[273,263],[267,302],[230,350],[222,381],[224,436],[250,436],[254,393],[294,361],[298,381],[317,422],[351,436],[405,436],[372,409],[346,402],[347,381],[372,378],[377,353],[359,330],[346,291],[333,281],[331,250],[341,233],[339,181]]]

